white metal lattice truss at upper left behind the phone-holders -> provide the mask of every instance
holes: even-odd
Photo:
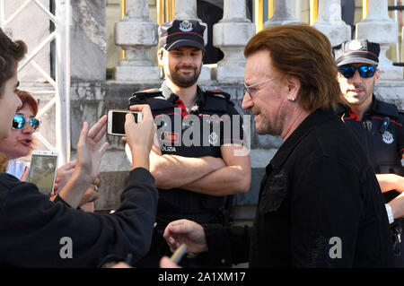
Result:
[[[56,14],[51,13],[47,7],[39,0],[27,0],[8,18],[5,17],[5,4],[11,1],[0,0],[0,28],[4,29],[7,24],[13,21],[15,17],[22,13],[28,4],[36,4],[42,13],[38,17],[44,16],[55,24],[56,30],[51,32],[46,39],[26,55],[22,63],[18,66],[17,72],[22,71],[28,65],[31,65],[35,71],[40,74],[53,88],[52,91],[30,91],[32,94],[54,95],[52,100],[40,108],[37,117],[43,116],[50,108],[55,106],[56,117],[56,147],[48,143],[41,134],[35,133],[36,137],[49,150],[59,153],[59,165],[65,164],[70,160],[70,23],[71,23],[71,5],[70,0],[57,0]],[[52,78],[38,63],[34,57],[52,41],[56,40],[56,60],[55,60],[55,79]]]

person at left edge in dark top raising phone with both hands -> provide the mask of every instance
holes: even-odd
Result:
[[[0,139],[10,135],[15,111],[22,105],[15,93],[16,68],[25,52],[22,41],[14,42],[0,30]],[[148,106],[131,109],[142,112],[144,119],[136,124],[135,118],[127,115],[126,138],[133,170],[121,205],[113,214],[75,210],[97,177],[108,146],[101,143],[106,116],[91,129],[83,123],[75,171],[64,187],[70,190],[69,204],[58,195],[50,202],[37,186],[0,173],[0,267],[97,267],[106,256],[130,255],[133,263],[145,255],[157,204],[154,178],[148,171],[156,127]]]

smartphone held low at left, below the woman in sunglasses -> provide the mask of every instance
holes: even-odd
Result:
[[[28,181],[37,185],[40,193],[50,195],[57,175],[57,152],[33,151]]]

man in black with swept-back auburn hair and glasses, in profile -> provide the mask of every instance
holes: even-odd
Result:
[[[390,267],[389,222],[372,166],[335,114],[343,100],[329,39],[307,25],[261,30],[247,44],[242,108],[285,142],[269,162],[252,228],[172,221],[171,251],[209,250],[250,267]]]

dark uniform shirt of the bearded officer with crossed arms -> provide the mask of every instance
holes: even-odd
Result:
[[[160,89],[136,92],[129,103],[150,105],[162,155],[222,158],[223,144],[243,143],[242,117],[224,91],[202,91],[198,87],[196,104],[187,110],[163,82]],[[223,204],[224,196],[180,188],[159,190],[157,222],[184,218],[198,223],[218,222]]]

